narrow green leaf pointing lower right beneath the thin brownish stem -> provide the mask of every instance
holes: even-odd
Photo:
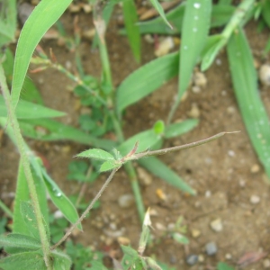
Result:
[[[195,195],[196,192],[190,187],[189,184],[186,184],[183,179],[175,174],[168,166],[161,162],[157,157],[147,157],[139,160],[139,164],[144,166],[149,172],[153,175],[157,175],[166,181],[166,183],[171,184],[184,193],[190,193]]]

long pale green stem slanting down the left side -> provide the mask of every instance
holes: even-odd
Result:
[[[38,229],[40,232],[40,242],[41,242],[41,246],[42,246],[42,250],[43,250],[44,261],[45,261],[45,264],[48,267],[48,269],[52,269],[52,266],[51,266],[52,262],[49,259],[49,254],[50,254],[49,239],[47,237],[46,229],[45,229],[45,226],[43,223],[42,213],[40,210],[40,204],[39,204],[38,196],[36,193],[34,180],[33,180],[33,177],[31,175],[30,163],[29,163],[29,160],[28,160],[25,148],[24,148],[24,140],[23,140],[23,137],[21,134],[19,123],[17,121],[16,115],[14,112],[14,105],[11,102],[11,96],[9,94],[9,91],[8,91],[8,88],[6,85],[6,81],[5,81],[5,77],[4,77],[4,69],[3,69],[2,65],[0,65],[0,88],[1,88],[3,95],[4,95],[4,101],[6,103],[7,112],[9,113],[9,119],[11,122],[11,126],[14,129],[14,137],[16,139],[16,145],[19,149],[21,160],[23,163],[23,170],[24,170],[24,174],[25,174],[26,179],[27,179],[29,193],[31,196],[31,202],[32,202],[33,209],[35,211],[37,225],[38,225]]]

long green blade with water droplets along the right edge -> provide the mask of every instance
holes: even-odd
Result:
[[[270,178],[270,125],[257,90],[257,73],[242,29],[228,44],[229,67],[238,106],[257,156]]]

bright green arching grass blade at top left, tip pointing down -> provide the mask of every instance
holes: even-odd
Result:
[[[31,55],[40,39],[67,9],[72,0],[42,0],[38,4],[21,31],[14,62],[14,78],[12,86],[12,102],[16,107],[19,102],[24,77],[29,67]]]

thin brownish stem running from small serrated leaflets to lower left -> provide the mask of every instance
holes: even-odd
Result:
[[[100,196],[102,195],[103,191],[105,190],[105,188],[108,186],[108,184],[110,184],[110,182],[112,181],[112,177],[113,175],[120,169],[121,166],[116,167],[112,170],[111,175],[109,175],[109,177],[107,178],[107,180],[105,181],[105,183],[103,184],[102,188],[99,190],[99,192],[95,195],[94,200],[88,205],[88,207],[86,208],[86,210],[83,212],[83,214],[81,215],[81,217],[76,220],[76,222],[67,230],[66,234],[52,247],[50,247],[50,250],[55,249],[56,247],[58,247],[61,243],[63,243],[68,236],[71,234],[72,230],[76,228],[76,226],[85,219],[86,214],[94,207],[94,203],[100,198]]]

